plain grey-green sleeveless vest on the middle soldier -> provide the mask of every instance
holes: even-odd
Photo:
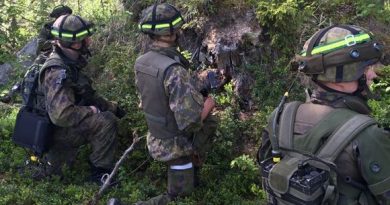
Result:
[[[182,134],[177,127],[174,113],[170,110],[169,97],[164,89],[165,73],[174,64],[181,65],[167,56],[149,51],[140,56],[134,66],[136,85],[141,94],[149,132],[157,138]]]

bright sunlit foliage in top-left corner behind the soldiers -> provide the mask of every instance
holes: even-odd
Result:
[[[53,21],[48,17],[51,9],[63,1],[0,1],[0,62],[8,60],[28,39],[36,36],[44,22]],[[118,12],[117,0],[68,1],[73,13],[94,20],[100,25],[109,16]]]

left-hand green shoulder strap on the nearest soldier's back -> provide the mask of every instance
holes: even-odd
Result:
[[[292,149],[293,147],[293,135],[294,135],[294,123],[295,116],[297,114],[298,107],[302,102],[294,101],[287,103],[284,106],[282,115],[280,116],[279,123],[279,145],[283,148]]]

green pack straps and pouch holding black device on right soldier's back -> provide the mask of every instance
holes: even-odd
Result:
[[[315,154],[305,153],[292,148],[295,116],[301,104],[286,104],[280,116],[276,136],[283,157],[279,162],[274,162],[273,158],[260,162],[268,204],[337,204],[338,170],[334,161],[358,133],[376,122],[367,115],[356,114],[347,109],[335,109],[312,130],[320,126],[327,129],[309,131],[306,139],[321,139],[326,133],[331,133],[330,136],[313,152]],[[336,124],[340,122],[337,120],[340,118],[345,119],[344,123]],[[333,122],[336,129],[330,128],[329,122]],[[270,140],[275,141],[271,137]]]

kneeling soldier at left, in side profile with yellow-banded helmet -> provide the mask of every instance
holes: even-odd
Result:
[[[46,110],[55,125],[53,141],[44,159],[48,167],[37,178],[61,174],[64,163],[72,164],[77,149],[86,143],[92,147],[89,157],[91,180],[111,172],[117,146],[117,117],[123,111],[116,103],[100,97],[82,69],[87,65],[92,24],[75,15],[63,15],[54,22],[53,52],[40,70],[37,107]],[[116,115],[116,116],[115,116]]]

